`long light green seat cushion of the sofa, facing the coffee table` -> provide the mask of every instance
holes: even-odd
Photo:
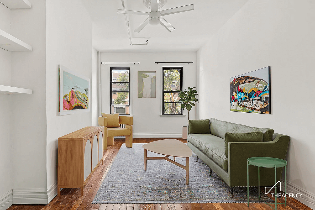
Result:
[[[224,153],[224,139],[211,134],[189,134],[187,140],[227,171],[228,159]]]

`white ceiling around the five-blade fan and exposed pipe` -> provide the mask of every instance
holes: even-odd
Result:
[[[226,23],[248,0],[168,0],[159,10],[194,4],[195,9],[164,16],[175,30],[167,31],[162,25],[147,25],[139,33],[134,30],[146,20],[144,15],[130,15],[133,43],[129,42],[121,0],[81,0],[93,21],[93,46],[100,52],[165,52],[197,51],[200,46]],[[143,0],[124,0],[128,10],[150,12]]]

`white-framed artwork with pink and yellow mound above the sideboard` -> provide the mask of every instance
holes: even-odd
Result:
[[[90,79],[78,76],[72,70],[58,65],[59,115],[90,111]]]

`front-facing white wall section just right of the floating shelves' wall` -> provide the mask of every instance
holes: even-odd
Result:
[[[33,47],[11,52],[12,86],[33,94],[11,95],[13,203],[45,203],[46,184],[46,30],[45,1],[30,0],[32,9],[11,10],[11,34]],[[36,201],[33,192],[38,193]]]

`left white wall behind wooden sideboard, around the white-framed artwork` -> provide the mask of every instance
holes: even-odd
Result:
[[[92,22],[79,0],[46,2],[47,188],[52,189],[50,201],[57,187],[57,139],[91,126],[95,106],[90,104],[92,111],[89,112],[58,116],[58,64],[92,79]],[[91,95],[93,97],[94,93]],[[96,103],[96,99],[92,98],[91,103]]]

